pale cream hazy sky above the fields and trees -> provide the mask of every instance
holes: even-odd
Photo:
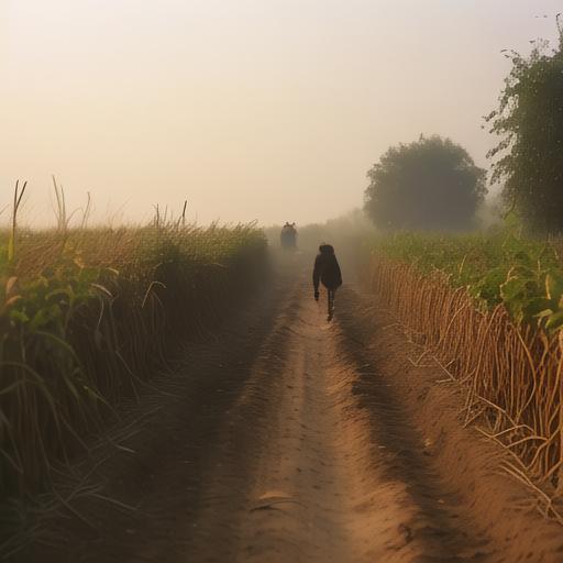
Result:
[[[0,0],[0,210],[324,220],[391,144],[451,136],[486,165],[500,49],[555,37],[561,0]],[[547,14],[549,18],[543,18]],[[538,18],[539,16],[539,18]],[[0,216],[5,221],[8,212]]]

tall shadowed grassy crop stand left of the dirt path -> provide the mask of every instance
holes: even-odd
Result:
[[[58,217],[57,229],[0,232],[1,497],[43,486],[266,268],[252,224],[73,230]]]

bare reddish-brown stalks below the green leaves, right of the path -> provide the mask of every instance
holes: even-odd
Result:
[[[439,272],[424,276],[373,258],[369,285],[404,327],[423,335],[422,356],[467,386],[466,421],[476,418],[478,404],[490,435],[532,478],[563,493],[563,336],[515,325],[503,306],[477,310]]]

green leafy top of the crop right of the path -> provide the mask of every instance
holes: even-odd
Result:
[[[377,252],[420,272],[441,272],[465,287],[478,306],[503,303],[517,323],[548,331],[563,327],[563,269],[554,246],[519,235],[400,233],[380,238]]]

